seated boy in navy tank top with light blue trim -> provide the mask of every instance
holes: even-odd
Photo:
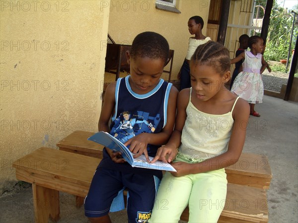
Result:
[[[119,78],[106,90],[98,130],[111,132],[112,129],[112,135],[123,139],[128,132],[125,128],[132,125],[130,131],[134,136],[125,145],[135,154],[134,158],[142,154],[147,159],[154,157],[174,127],[178,90],[159,79],[168,53],[168,43],[161,35],[154,32],[137,35],[131,51],[126,52],[130,76]],[[133,123],[127,122],[132,119]],[[128,125],[118,128],[119,123],[125,122]],[[112,202],[118,193],[122,196],[125,187],[128,189],[129,223],[147,222],[161,177],[160,170],[131,167],[121,153],[105,148],[85,199],[85,215],[91,223],[110,223],[108,213]]]

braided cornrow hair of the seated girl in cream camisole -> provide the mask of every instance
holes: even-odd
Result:
[[[229,51],[220,43],[208,41],[198,46],[191,61],[197,65],[206,64],[214,67],[214,69],[224,75],[225,71],[230,69]]]

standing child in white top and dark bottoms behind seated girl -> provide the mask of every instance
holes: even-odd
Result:
[[[189,38],[188,50],[182,67],[178,73],[178,79],[180,79],[180,90],[184,88],[190,88],[190,76],[189,76],[189,60],[194,54],[195,50],[201,44],[211,40],[210,37],[206,37],[202,34],[204,27],[204,20],[201,16],[193,16],[188,20],[188,31],[194,37]]]

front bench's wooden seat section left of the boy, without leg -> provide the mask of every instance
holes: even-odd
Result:
[[[85,197],[100,161],[93,157],[42,147],[16,160],[12,167],[16,169],[19,180]]]

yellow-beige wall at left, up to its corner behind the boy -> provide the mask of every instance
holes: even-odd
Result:
[[[1,0],[1,193],[16,181],[16,159],[57,148],[74,130],[97,130],[110,12],[103,2]]]

